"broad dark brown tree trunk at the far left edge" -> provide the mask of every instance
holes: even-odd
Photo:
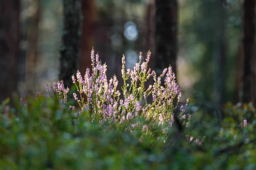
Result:
[[[19,0],[0,0],[0,102],[17,91],[19,15]]]

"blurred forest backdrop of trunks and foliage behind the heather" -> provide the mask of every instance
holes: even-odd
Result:
[[[254,24],[255,0],[0,0],[0,100],[71,81],[93,46],[108,77],[121,80],[122,54],[133,68],[151,50],[183,100],[255,102]]]

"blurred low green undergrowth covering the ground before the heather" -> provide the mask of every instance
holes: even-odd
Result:
[[[91,122],[85,119],[88,113],[77,117],[68,105],[44,96],[28,98],[23,105],[17,99],[15,108],[8,102],[0,107],[0,169],[256,168],[256,121],[248,120],[247,127],[241,124],[244,116],[255,116],[250,105],[227,105],[221,126],[199,109],[192,113],[189,126],[178,132],[175,123],[165,129],[142,119]],[[202,144],[189,142],[191,136]]]

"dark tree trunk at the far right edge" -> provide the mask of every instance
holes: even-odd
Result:
[[[242,102],[255,102],[255,0],[244,0],[244,68]]]

